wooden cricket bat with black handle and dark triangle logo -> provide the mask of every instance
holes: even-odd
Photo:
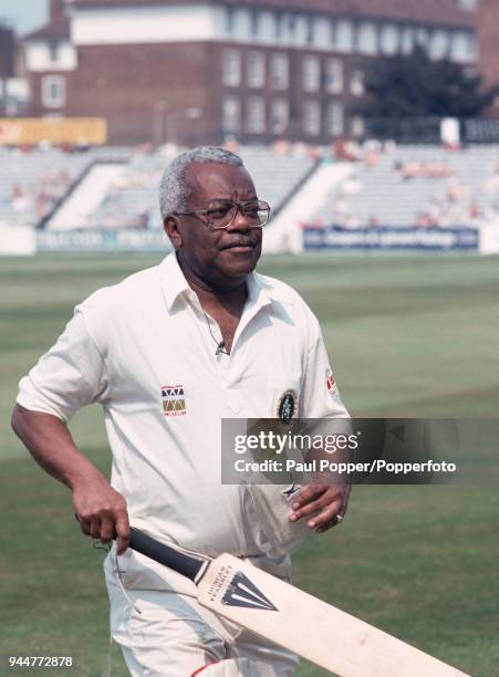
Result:
[[[194,581],[206,608],[340,677],[466,677],[228,553],[206,562],[137,529],[131,530],[129,546]]]

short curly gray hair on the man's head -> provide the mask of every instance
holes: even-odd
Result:
[[[159,209],[162,219],[174,211],[187,211],[190,187],[186,180],[187,169],[194,164],[230,165],[242,167],[241,158],[216,146],[198,146],[178,155],[166,168],[159,185]]]

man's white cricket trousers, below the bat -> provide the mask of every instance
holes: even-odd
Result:
[[[248,658],[262,677],[291,677],[294,654],[240,631],[198,604],[191,595],[124,590],[106,570],[111,632],[133,677],[190,677],[228,658]],[[202,675],[202,673],[201,673]]]

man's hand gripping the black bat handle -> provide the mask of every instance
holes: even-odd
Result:
[[[73,506],[83,533],[103,543],[111,542],[116,533],[117,554],[125,552],[129,544],[126,501],[106,480],[75,488]]]

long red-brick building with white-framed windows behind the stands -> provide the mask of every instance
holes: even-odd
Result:
[[[65,9],[64,9],[65,8]],[[53,0],[25,41],[32,114],[103,116],[110,143],[360,136],[368,62],[476,63],[470,0]]]

